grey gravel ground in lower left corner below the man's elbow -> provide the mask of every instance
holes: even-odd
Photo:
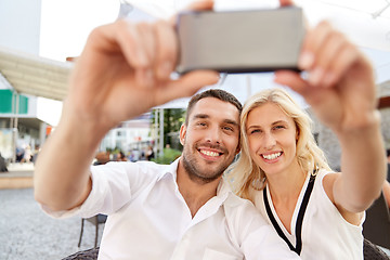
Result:
[[[0,190],[0,259],[61,260],[94,246],[94,226],[86,222],[77,247],[80,218],[55,220],[44,214],[34,199],[32,188]],[[99,239],[104,225],[100,225]]]

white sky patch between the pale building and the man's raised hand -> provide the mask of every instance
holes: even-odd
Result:
[[[61,62],[79,55],[89,32],[118,12],[119,0],[42,0],[40,55]]]

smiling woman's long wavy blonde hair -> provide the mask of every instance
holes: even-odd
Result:
[[[297,128],[297,160],[303,172],[311,172],[315,167],[330,170],[323,151],[315,143],[312,134],[310,116],[283,89],[269,89],[252,95],[244,105],[240,114],[240,154],[239,158],[229,168],[226,177],[234,192],[244,198],[253,202],[252,192],[265,186],[266,178],[255,161],[250,158],[246,122],[249,113],[266,103],[277,105]]]

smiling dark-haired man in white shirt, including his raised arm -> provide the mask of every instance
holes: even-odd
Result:
[[[192,99],[180,131],[183,155],[172,165],[90,167],[110,128],[218,81],[202,70],[171,80],[177,53],[166,22],[119,21],[90,35],[36,165],[36,199],[54,217],[108,214],[99,259],[298,259],[222,179],[239,151],[240,110],[224,91]],[[57,161],[60,147],[66,150]]]

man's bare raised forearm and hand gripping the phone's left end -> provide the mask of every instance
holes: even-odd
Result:
[[[60,123],[37,160],[39,203],[52,210],[82,204],[91,191],[90,164],[110,128],[218,81],[214,72],[171,80],[177,54],[177,36],[168,22],[118,21],[91,32],[72,73]]]

